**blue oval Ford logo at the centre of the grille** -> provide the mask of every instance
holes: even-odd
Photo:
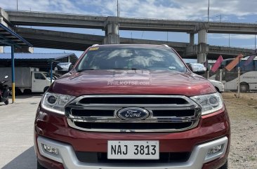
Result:
[[[120,119],[127,121],[139,121],[146,119],[149,116],[149,111],[139,107],[127,107],[124,109],[120,109],[117,112],[117,116]]]

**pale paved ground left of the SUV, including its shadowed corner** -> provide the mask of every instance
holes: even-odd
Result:
[[[41,95],[22,95],[15,104],[0,102],[0,168],[37,168],[33,125],[40,100]]]

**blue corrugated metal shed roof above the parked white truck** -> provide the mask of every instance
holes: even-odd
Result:
[[[77,55],[74,53],[14,53],[15,59],[31,59],[31,60],[37,60],[37,59],[60,59],[65,58],[68,56],[74,55],[76,58]],[[0,60],[1,59],[11,59],[11,53],[0,53]]]

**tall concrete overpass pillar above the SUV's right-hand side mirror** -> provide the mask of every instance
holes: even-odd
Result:
[[[197,62],[203,63],[206,61],[206,55],[209,52],[209,45],[207,43],[206,29],[200,29],[198,32],[198,46],[197,46]]]

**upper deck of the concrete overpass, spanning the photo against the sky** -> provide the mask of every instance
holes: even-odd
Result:
[[[117,18],[97,15],[6,11],[12,25],[46,27],[81,27],[105,30],[107,22],[118,22],[121,30],[197,33],[257,34],[257,24],[233,22],[199,22],[187,20],[160,20],[146,18]]]

